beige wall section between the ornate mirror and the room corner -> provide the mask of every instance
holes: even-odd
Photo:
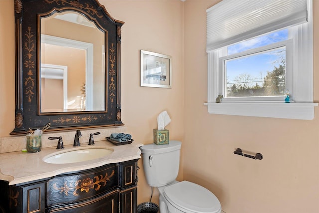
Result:
[[[167,110],[170,139],[184,139],[183,2],[179,0],[99,0],[110,15],[124,21],[121,41],[122,121],[141,143],[153,143],[156,118]],[[140,87],[140,50],[172,56],[172,88]],[[142,161],[138,203],[150,201]],[[182,167],[178,179],[182,179]],[[152,201],[158,203],[157,189]]]

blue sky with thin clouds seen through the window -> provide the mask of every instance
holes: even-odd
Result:
[[[229,46],[228,55],[287,39],[287,29],[273,32]],[[256,82],[252,83],[252,85],[255,85],[256,83],[262,85],[262,79],[267,75],[267,71],[271,72],[274,69],[274,66],[279,65],[278,61],[280,61],[281,57],[285,57],[285,55],[282,56],[282,50],[285,49],[276,49],[263,54],[227,61],[227,81],[229,83],[235,82],[236,76],[239,76],[240,74],[249,74],[251,78],[256,79]]]

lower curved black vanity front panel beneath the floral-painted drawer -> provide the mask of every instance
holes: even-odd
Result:
[[[72,205],[49,209],[48,213],[119,213],[119,191]]]

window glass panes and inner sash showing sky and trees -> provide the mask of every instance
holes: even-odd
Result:
[[[224,48],[227,54],[219,58],[218,70],[224,77],[219,89],[224,101],[284,99],[291,84],[286,85],[286,75],[291,75],[286,73],[286,53],[291,51],[287,29]]]

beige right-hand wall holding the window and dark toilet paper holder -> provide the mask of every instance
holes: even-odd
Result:
[[[206,15],[214,0],[185,2],[184,179],[226,213],[319,212],[319,114],[312,121],[212,115],[207,101]],[[314,0],[314,100],[319,99],[319,1]],[[253,160],[233,151],[260,152]]]

